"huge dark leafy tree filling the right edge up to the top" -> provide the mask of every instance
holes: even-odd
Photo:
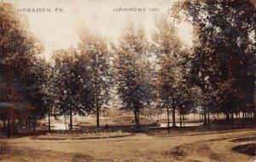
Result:
[[[205,96],[205,119],[210,111],[226,113],[229,119],[229,114],[237,109],[246,112],[248,107],[255,107],[253,3],[184,1],[177,2],[172,11],[177,20],[185,15],[196,29],[191,81]]]

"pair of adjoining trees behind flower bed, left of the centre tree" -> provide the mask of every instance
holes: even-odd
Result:
[[[111,89],[107,42],[85,27],[79,37],[77,49],[54,51],[55,65],[49,72],[49,85],[43,88],[48,92],[48,107],[55,108],[55,115],[69,116],[71,129],[74,114],[96,113],[99,126],[100,111],[107,108]]]

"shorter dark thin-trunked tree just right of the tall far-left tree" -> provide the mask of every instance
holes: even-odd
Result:
[[[29,120],[32,119],[33,130],[35,130],[37,119],[44,119],[48,113],[47,108],[44,107],[46,93],[42,91],[42,88],[48,81],[49,64],[44,59],[30,57],[24,68],[24,71],[20,73],[20,84],[16,90],[31,105],[32,116]]]

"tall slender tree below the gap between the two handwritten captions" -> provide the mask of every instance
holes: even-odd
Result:
[[[90,83],[90,102],[96,112],[96,127],[100,126],[100,112],[106,109],[110,99],[111,73],[109,52],[106,39],[99,34],[90,32],[82,26],[79,29],[79,55],[86,61],[88,82]]]

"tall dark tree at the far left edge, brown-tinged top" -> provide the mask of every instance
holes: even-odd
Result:
[[[26,18],[11,3],[0,3],[0,10],[0,87],[6,92],[0,101],[13,105],[8,115],[12,127],[14,111],[18,111],[20,117],[21,112],[26,113],[26,118],[44,116],[43,112],[38,114],[40,98],[34,101],[34,98],[27,97],[35,96],[40,77],[44,76],[40,74],[42,68],[38,64],[38,54],[43,51],[43,46],[29,32]]]

